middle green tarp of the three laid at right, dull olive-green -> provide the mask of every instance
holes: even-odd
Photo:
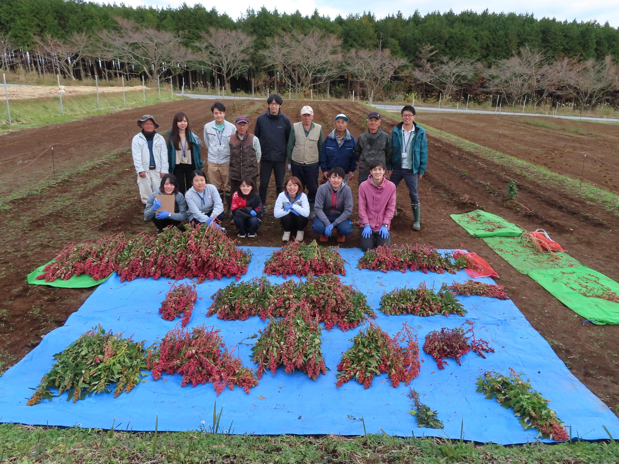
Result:
[[[483,241],[521,274],[529,274],[532,270],[582,266],[578,260],[564,252],[538,253],[531,247],[524,246],[519,237],[488,237]]]

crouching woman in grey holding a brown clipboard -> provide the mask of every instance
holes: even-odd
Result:
[[[187,218],[185,197],[178,191],[178,180],[174,174],[165,174],[161,186],[146,200],[144,220],[152,220],[161,233],[167,226],[178,226]]]

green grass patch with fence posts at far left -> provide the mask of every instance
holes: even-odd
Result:
[[[138,108],[139,106],[157,105],[172,99],[170,92],[162,89],[161,100],[157,90],[147,89],[146,101],[141,91],[130,90],[125,92],[126,106],[123,101],[123,92],[100,93],[101,109],[97,107],[97,95],[63,96],[64,116],[60,109],[58,97],[28,98],[26,100],[10,100],[12,126],[9,126],[6,105],[0,105],[0,135],[7,132],[30,129],[32,127],[48,126],[62,122],[76,121],[89,116],[115,113],[116,111]],[[175,100],[180,100],[176,97]]]

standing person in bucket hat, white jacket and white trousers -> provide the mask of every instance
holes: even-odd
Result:
[[[161,186],[161,178],[168,174],[168,149],[163,136],[155,132],[159,124],[154,116],[144,114],[142,119],[137,120],[137,127],[142,131],[133,137],[131,153],[140,198],[146,204],[152,192]]]

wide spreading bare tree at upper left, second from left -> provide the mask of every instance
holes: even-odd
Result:
[[[178,72],[191,58],[189,50],[174,34],[141,28],[131,20],[115,19],[119,30],[99,33],[102,57],[131,62],[149,79],[158,77],[165,70]]]

